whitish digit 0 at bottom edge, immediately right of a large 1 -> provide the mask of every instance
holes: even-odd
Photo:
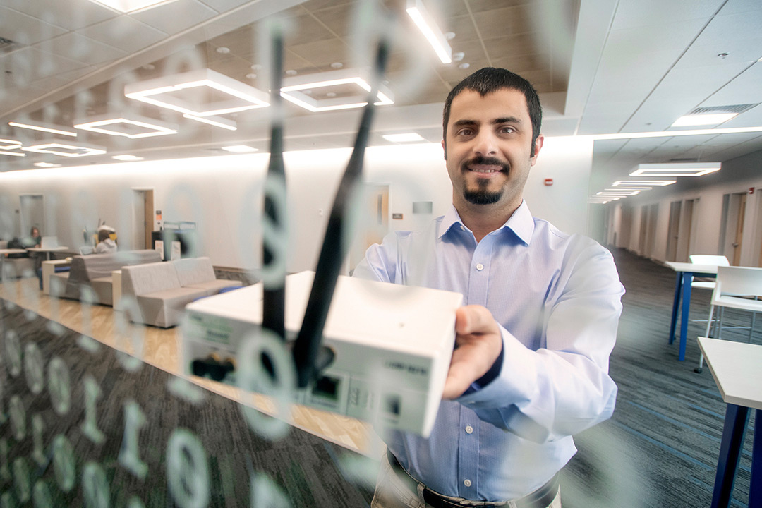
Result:
[[[209,465],[203,446],[189,430],[175,429],[167,445],[169,494],[180,508],[209,505]]]

